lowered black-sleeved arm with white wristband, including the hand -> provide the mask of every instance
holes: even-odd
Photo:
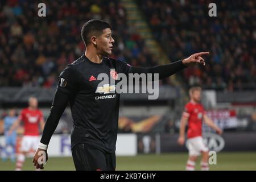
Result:
[[[49,117],[47,118],[46,125],[44,126],[43,135],[40,140],[38,150],[36,150],[34,158],[32,160],[34,166],[36,166],[37,169],[44,168],[43,164],[48,159],[47,147],[49,144],[49,140],[51,139],[52,134],[59,123],[60,117],[63,114],[65,107],[68,105],[68,101],[68,94],[65,94],[59,90],[56,91],[52,102],[51,112],[49,114]],[[44,162],[41,161],[43,158]]]

